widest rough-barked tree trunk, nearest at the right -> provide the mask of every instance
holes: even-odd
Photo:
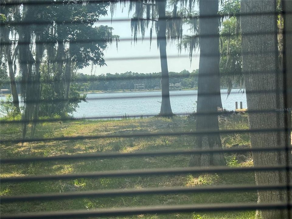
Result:
[[[283,109],[283,92],[266,92],[283,89],[283,75],[279,72],[277,47],[277,15],[275,1],[241,1],[241,13],[267,13],[261,16],[242,16],[242,65],[244,75],[248,110]],[[275,14],[273,14],[275,13]],[[267,34],[256,33],[267,32]],[[252,34],[254,33],[254,34]],[[275,33],[275,34],[269,34]],[[274,49],[274,53],[269,51]],[[254,74],[254,72],[260,72]],[[271,74],[275,72],[275,74]],[[249,74],[251,73],[251,74]],[[252,91],[252,93],[251,93]],[[285,118],[281,111],[273,113],[249,113],[249,128],[284,128]],[[291,152],[288,155],[284,148],[288,144],[287,133],[252,132],[250,140],[252,147],[269,148],[278,146],[283,151],[254,152],[254,166],[277,166],[291,164]],[[290,144],[290,143],[289,143]],[[286,159],[286,155],[288,160]],[[257,185],[286,183],[285,171],[255,172]],[[291,176],[291,173],[290,173]],[[290,180],[290,179],[289,179]],[[289,195],[290,196],[290,195]],[[259,203],[285,202],[288,200],[286,191],[258,191]],[[288,218],[287,210],[265,210],[257,213],[258,218],[274,219]]]

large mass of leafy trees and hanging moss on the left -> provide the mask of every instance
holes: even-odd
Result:
[[[17,44],[13,54],[6,54],[9,57],[12,55],[14,66],[19,64],[22,82],[20,89],[25,108],[23,119],[26,121],[37,120],[39,115],[64,117],[74,112],[78,103],[86,98],[78,93],[79,85],[70,84],[74,72],[90,64],[105,65],[104,50],[114,40],[116,44],[119,40],[119,36],[113,35],[112,27],[96,26],[100,17],[107,15],[110,1],[47,3],[22,5],[20,1],[13,6],[5,3],[1,5],[1,11],[8,21],[51,21],[23,28],[1,28],[5,32],[5,37],[2,37],[5,39],[1,38],[1,43],[10,42],[10,35],[27,42]],[[1,14],[1,21],[5,19],[4,15]],[[62,20],[68,23],[61,23]],[[42,41],[49,43],[38,43]],[[9,53],[11,50],[9,49]],[[1,54],[1,61],[3,57]],[[1,75],[1,79],[4,76]],[[41,83],[42,80],[45,83]],[[39,100],[42,100],[41,104],[38,104]],[[29,122],[23,123],[23,137],[26,136],[28,125]],[[32,123],[31,128],[32,137],[36,123]]]

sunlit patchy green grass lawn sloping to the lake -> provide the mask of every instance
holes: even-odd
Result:
[[[220,120],[221,129],[247,128],[246,116],[232,115]],[[194,120],[191,117],[147,118],[128,120],[82,120],[74,122],[46,122],[37,126],[35,137],[73,137],[79,135],[111,135],[133,133],[159,133],[162,131],[194,130]],[[1,125],[1,139],[10,140],[21,138],[21,126]],[[29,136],[29,133],[28,133]],[[248,136],[222,136],[222,141],[228,138],[224,147],[234,144],[250,144]],[[100,153],[109,151],[155,151],[193,148],[194,136],[160,136],[133,138],[103,138],[78,141],[43,141],[24,144],[1,144],[1,158],[17,158],[30,156],[74,155],[78,153]],[[252,165],[252,162],[240,163],[236,155],[226,155],[230,166]],[[148,168],[178,168],[188,166],[189,155],[91,159],[32,162],[26,164],[1,165],[1,178],[12,176],[28,176],[43,174],[69,174],[105,170],[148,169]],[[72,192],[99,189],[128,189],[170,186],[204,186],[219,184],[250,184],[255,183],[252,173],[224,173],[213,175],[176,175],[176,176],[142,176],[102,179],[74,179],[59,181],[42,181],[26,183],[1,183],[1,195],[20,195],[33,193]],[[61,201],[34,201],[1,204],[1,213],[37,212],[71,209],[101,209],[112,207],[137,207],[151,205],[173,205],[191,203],[237,203],[256,202],[256,192],[237,193],[186,193],[171,195],[121,196],[103,198],[85,198]],[[255,212],[221,212],[189,214],[136,215],[116,218],[190,218],[190,219],[253,219]]]

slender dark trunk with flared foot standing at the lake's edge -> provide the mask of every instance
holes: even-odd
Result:
[[[160,64],[161,64],[161,93],[162,101],[160,108],[160,116],[172,116],[172,110],[169,98],[169,75],[167,67],[166,57],[166,20],[165,20],[165,4],[166,1],[158,1],[158,45],[160,52]]]

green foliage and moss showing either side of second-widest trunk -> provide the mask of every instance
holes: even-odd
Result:
[[[241,58],[241,37],[239,36],[239,18],[240,0],[224,0],[219,14],[225,15],[221,19],[220,30],[220,84],[223,88],[228,88],[228,94],[232,87],[244,86],[242,74],[242,58]],[[230,17],[230,16],[233,17]],[[198,22],[197,22],[198,25]],[[198,30],[197,27],[195,30]],[[196,32],[196,31],[195,31]],[[179,52],[182,49],[189,51],[190,61],[192,60],[193,52],[199,48],[199,36],[184,35],[178,43]],[[190,85],[189,80],[184,82]]]

